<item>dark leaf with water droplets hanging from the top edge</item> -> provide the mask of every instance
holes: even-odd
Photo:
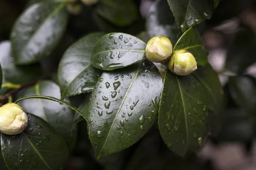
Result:
[[[167,0],[182,32],[212,17],[213,0]]]

